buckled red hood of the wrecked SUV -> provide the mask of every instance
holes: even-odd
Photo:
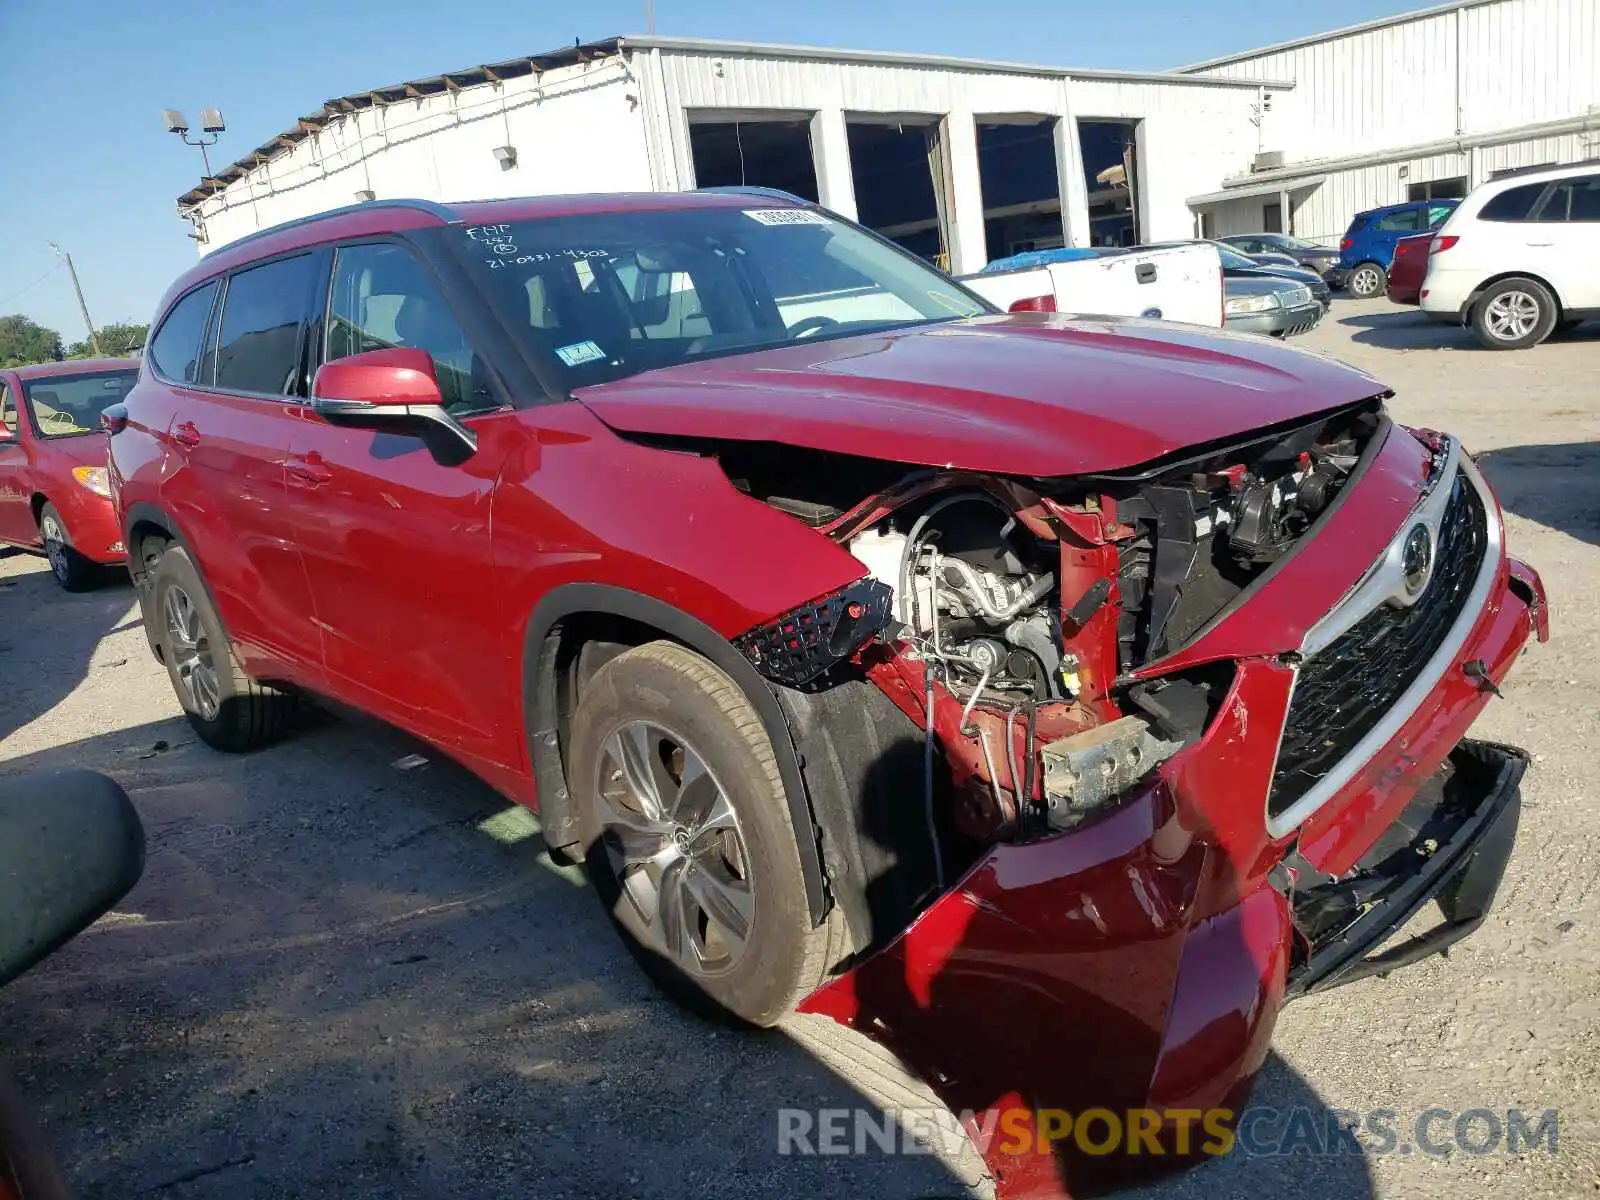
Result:
[[[1048,477],[1138,466],[1386,392],[1362,371],[1267,339],[1018,314],[800,341],[576,397],[632,434]]]

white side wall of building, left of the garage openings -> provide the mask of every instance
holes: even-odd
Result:
[[[350,114],[200,205],[202,253],[357,202],[651,190],[635,80],[619,59]],[[517,149],[501,170],[496,146]]]

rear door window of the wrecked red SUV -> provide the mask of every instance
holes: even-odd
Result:
[[[317,285],[314,254],[232,275],[222,294],[216,386],[256,395],[302,395],[304,333]]]

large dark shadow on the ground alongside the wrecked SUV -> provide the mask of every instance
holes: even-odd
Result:
[[[0,763],[107,771],[147,832],[117,910],[0,992],[83,1200],[986,1194],[781,1155],[781,1110],[880,1101],[661,997],[523,810],[418,752],[320,722],[222,757],[174,718]]]

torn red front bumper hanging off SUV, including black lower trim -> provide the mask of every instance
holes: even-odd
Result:
[[[1464,738],[1531,634],[1547,637],[1542,584],[1501,560],[1429,696],[1266,854],[1237,830],[1186,821],[1178,800],[1266,789],[1270,763],[1246,778],[1242,747],[1248,728],[1282,725],[1286,690],[1282,667],[1240,664],[1182,770],[1099,822],[990,846],[802,1010],[880,1042],[952,1112],[1002,1130],[982,1138],[968,1125],[1005,1200],[1179,1165],[1195,1147],[1170,1139],[1171,1118],[1240,1112],[1288,998],[1395,970],[1482,923],[1515,837],[1526,757]],[[1430,899],[1443,925],[1381,949]],[[1112,1152],[1061,1138],[1062,1115],[1091,1109],[1118,1114],[1123,1130],[1158,1120],[1171,1149],[1131,1157],[1126,1138]]]

